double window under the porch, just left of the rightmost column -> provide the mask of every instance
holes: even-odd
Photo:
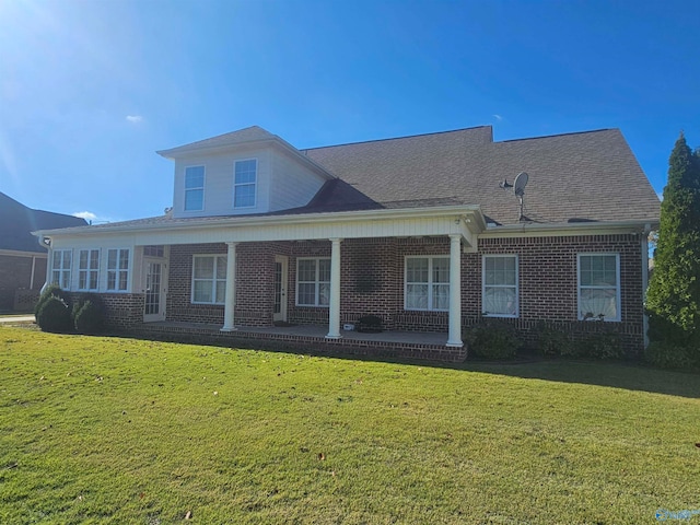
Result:
[[[450,310],[450,257],[406,257],[404,307]]]

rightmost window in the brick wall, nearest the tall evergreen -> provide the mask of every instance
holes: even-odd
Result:
[[[618,254],[579,254],[579,318],[620,320]]]

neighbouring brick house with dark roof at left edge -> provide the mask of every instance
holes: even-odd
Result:
[[[34,307],[46,279],[46,247],[37,229],[86,225],[83,219],[33,210],[0,192],[0,312]]]

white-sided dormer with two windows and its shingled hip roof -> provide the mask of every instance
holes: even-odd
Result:
[[[174,218],[299,208],[335,178],[258,126],[158,153],[175,161]]]

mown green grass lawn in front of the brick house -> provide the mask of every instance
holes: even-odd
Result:
[[[0,523],[655,523],[700,509],[699,398],[638,366],[0,327]]]

